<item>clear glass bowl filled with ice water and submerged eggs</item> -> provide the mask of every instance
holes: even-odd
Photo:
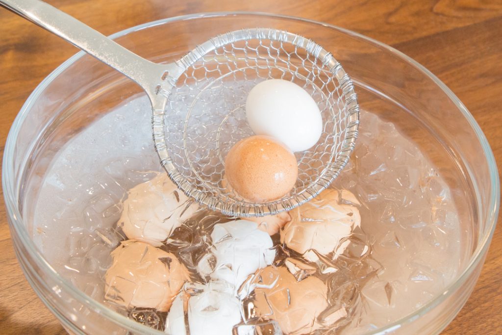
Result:
[[[472,116],[419,64],[336,27],[258,14],[166,19],[114,38],[170,62],[256,26],[323,45],[360,105],[342,173],[277,217],[227,217],[178,191],[153,147],[147,97],[83,53],[23,106],[4,157],[11,232],[28,280],[70,333],[438,333],[467,300],[495,226],[498,174]],[[246,87],[222,83],[215,104]]]

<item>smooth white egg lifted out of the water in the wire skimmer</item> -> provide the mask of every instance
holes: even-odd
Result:
[[[322,133],[317,103],[303,88],[283,79],[253,87],[246,99],[246,118],[256,135],[272,136],[294,152],[314,146]]]

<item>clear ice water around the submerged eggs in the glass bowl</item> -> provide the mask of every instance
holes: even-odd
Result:
[[[126,309],[104,298],[110,252],[124,240],[116,228],[121,202],[133,186],[161,171],[151,139],[150,106],[144,97],[115,108],[61,150],[47,172],[35,207],[34,240],[48,262],[93,299],[162,330],[166,313]],[[361,132],[349,164],[332,187],[360,202],[361,229],[334,261],[337,271],[319,276],[328,287],[319,333],[364,333],[417,310],[438,295],[460,268],[461,231],[451,190],[418,146],[371,111],[360,114]],[[200,243],[218,213],[199,210],[164,246],[195,269]],[[278,236],[272,237],[276,245]],[[275,263],[285,256],[279,252]],[[244,299],[242,303],[246,303]],[[332,318],[343,307],[346,315]],[[246,319],[243,322],[253,324]],[[330,323],[331,322],[331,323]]]

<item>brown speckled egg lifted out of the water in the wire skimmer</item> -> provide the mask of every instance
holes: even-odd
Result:
[[[268,136],[251,136],[237,142],[225,159],[225,174],[232,188],[254,202],[278,199],[295,186],[295,155]]]

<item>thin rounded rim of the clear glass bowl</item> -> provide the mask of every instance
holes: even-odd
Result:
[[[189,15],[183,15],[183,16],[176,16],[172,18],[167,18],[167,19],[162,19],[162,20],[157,20],[149,23],[145,23],[142,25],[138,25],[135,27],[131,27],[126,30],[122,30],[120,32],[117,32],[115,34],[112,34],[109,36],[111,39],[115,39],[118,37],[122,37],[124,35],[127,35],[132,32],[140,31],[143,29],[148,29],[154,26],[158,25],[164,25],[170,22],[174,21],[185,21],[185,20],[192,20],[192,19],[197,19],[197,18],[202,18],[202,17],[228,17],[228,16],[258,16],[258,17],[270,17],[270,18],[278,18],[278,19],[287,19],[287,20],[297,20],[301,21],[304,23],[309,23],[309,24],[315,24],[315,25],[320,25],[324,26],[327,28],[335,29],[343,34],[355,37],[357,39],[364,40],[365,42],[368,42],[370,44],[373,44],[377,47],[380,47],[382,49],[387,50],[388,52],[394,54],[395,56],[401,58],[402,60],[406,61],[409,63],[411,66],[415,67],[418,69],[420,72],[422,72],[423,75],[429,77],[436,85],[438,85],[444,93],[451,99],[451,101],[458,107],[460,110],[460,113],[464,116],[464,118],[468,121],[470,127],[474,131],[474,133],[477,136],[477,139],[479,143],[481,144],[481,147],[483,148],[484,155],[486,157],[486,161],[488,163],[488,169],[489,169],[489,178],[491,181],[491,192],[489,196],[489,213],[486,216],[486,233],[484,236],[481,238],[480,243],[478,244],[476,250],[474,251],[473,255],[471,256],[469,263],[467,267],[464,269],[464,271],[457,276],[456,280],[452,282],[449,286],[447,286],[443,292],[439,295],[437,295],[433,300],[429,301],[427,304],[422,306],[420,309],[415,311],[412,314],[409,314],[408,316],[395,321],[385,327],[382,327],[380,329],[376,329],[372,332],[367,333],[367,335],[370,334],[385,334],[388,333],[389,331],[398,329],[401,327],[401,325],[412,322],[416,318],[420,317],[421,315],[427,313],[430,309],[434,308],[436,305],[447,299],[453,292],[456,292],[456,290],[461,286],[461,284],[469,277],[473,269],[476,267],[476,265],[483,259],[483,256],[486,254],[487,248],[489,246],[489,242],[491,241],[491,237],[493,235],[494,229],[495,229],[495,224],[496,224],[496,219],[498,217],[498,209],[499,209],[499,202],[500,202],[500,185],[499,185],[499,178],[498,178],[498,170],[496,167],[496,162],[493,156],[493,153],[491,151],[491,148],[488,144],[488,141],[486,140],[485,135],[481,131],[481,128],[477,124],[477,122],[474,120],[474,117],[469,113],[467,108],[463,105],[463,103],[458,99],[458,97],[434,74],[432,74],[429,70],[427,70],[424,66],[421,64],[417,63],[415,60],[412,58],[408,57],[407,55],[403,54],[402,52],[384,44],[381,43],[377,40],[374,40],[372,38],[366,37],[364,35],[361,35],[359,33],[355,33],[353,31],[340,28],[334,25],[330,25],[327,23],[322,23],[314,20],[309,20],[309,19],[304,19],[304,18],[299,18],[299,17],[293,17],[293,16],[286,16],[286,15],[277,15],[277,14],[270,14],[270,13],[261,13],[261,12],[210,12],[210,13],[197,13],[197,14],[189,14]],[[155,333],[155,334],[165,334],[164,332],[161,332],[159,330],[152,329],[150,327],[147,327],[145,325],[142,325],[140,323],[137,323],[134,320],[131,320],[127,318],[126,316],[123,316],[107,307],[102,305],[101,303],[89,299],[87,295],[85,295],[82,291],[80,291],[78,288],[73,286],[69,281],[61,277],[51,266],[47,261],[44,259],[43,255],[38,251],[37,247],[35,244],[32,242],[30,235],[28,231],[26,230],[25,226],[23,225],[23,221],[21,219],[21,213],[19,212],[19,208],[17,207],[17,197],[18,194],[16,194],[16,185],[14,184],[14,170],[13,170],[13,157],[15,153],[15,145],[17,142],[17,137],[19,135],[19,131],[21,129],[21,125],[23,124],[24,120],[26,119],[29,110],[32,108],[35,100],[40,96],[40,94],[43,93],[44,89],[51,83],[53,79],[55,79],[59,74],[61,74],[65,69],[67,69],[71,64],[73,64],[75,61],[77,61],[80,57],[86,55],[85,52],[80,51],[77,54],[73,55],[69,59],[67,59],[65,62],[63,62],[60,66],[58,66],[53,72],[51,72],[42,82],[33,90],[33,92],[30,94],[28,99],[25,101],[23,106],[21,107],[21,110],[14,120],[14,123],[11,127],[11,130],[9,131],[9,135],[7,137],[6,141],[6,146],[5,146],[5,152],[4,152],[4,157],[3,157],[3,168],[2,168],[2,185],[3,185],[3,191],[4,191],[4,198],[5,198],[5,203],[7,207],[7,214],[10,218],[10,226],[11,226],[11,234],[16,234],[25,248],[29,252],[29,256],[31,257],[32,260],[36,262],[36,264],[41,268],[44,269],[44,272],[46,275],[50,276],[52,280],[57,282],[59,285],[61,285],[62,288],[67,290],[68,292],[71,292],[71,295],[73,298],[75,298],[79,303],[87,306],[91,310],[97,311],[99,314],[103,315],[106,318],[109,318],[113,320],[115,323],[122,324],[123,326],[126,326],[130,329],[136,330],[136,331],[142,331],[145,333]],[[11,224],[12,222],[12,224]],[[37,294],[39,294],[37,292]],[[45,300],[45,299],[43,299]],[[54,312],[54,311],[53,311]],[[59,313],[58,313],[59,314]]]

